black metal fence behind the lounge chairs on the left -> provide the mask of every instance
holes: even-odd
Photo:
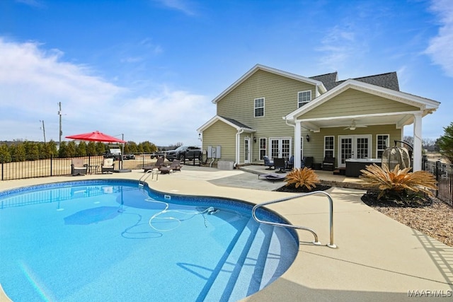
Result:
[[[82,156],[88,165],[88,173],[101,171],[103,156]],[[18,180],[23,178],[44,178],[48,176],[71,175],[72,158],[47,158],[30,161],[0,162],[0,180]],[[114,161],[115,170],[142,169],[156,162],[149,154],[136,154],[135,158]],[[96,168],[97,167],[97,168]]]

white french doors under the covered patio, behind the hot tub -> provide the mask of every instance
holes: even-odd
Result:
[[[338,166],[345,167],[346,160],[371,158],[371,135],[340,135],[338,137]]]

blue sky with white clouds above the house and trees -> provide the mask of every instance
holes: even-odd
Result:
[[[256,64],[396,71],[400,91],[441,103],[423,118],[437,139],[453,122],[453,0],[1,0],[0,141],[59,141],[61,117],[63,141],[200,145],[212,100]]]

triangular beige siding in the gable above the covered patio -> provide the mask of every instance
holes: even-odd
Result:
[[[394,100],[382,98],[378,95],[372,95],[350,88],[347,91],[336,95],[334,98],[331,98],[331,100],[328,100],[326,103],[323,103],[313,110],[306,112],[306,114],[299,118],[308,119],[419,110],[420,108],[418,107],[406,105]]]

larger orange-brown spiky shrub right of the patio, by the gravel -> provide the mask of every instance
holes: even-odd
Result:
[[[427,171],[415,171],[409,173],[411,168],[399,169],[399,165],[389,170],[386,165],[367,165],[365,170],[360,170],[360,179],[364,185],[379,189],[377,199],[407,200],[414,195],[425,193],[432,195],[431,190],[437,190],[434,175]]]

